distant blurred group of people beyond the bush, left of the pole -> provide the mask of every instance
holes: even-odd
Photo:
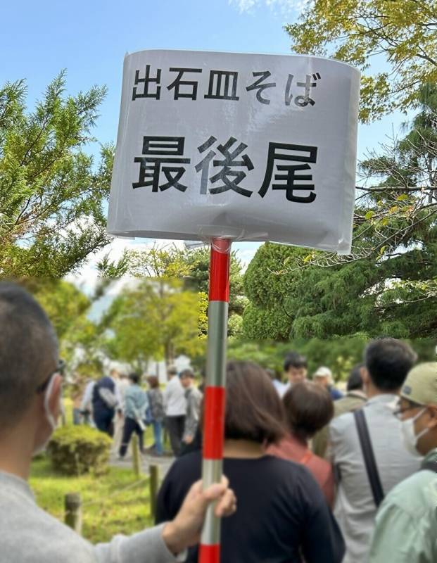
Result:
[[[132,434],[139,438],[139,449],[146,453],[144,431],[153,427],[153,445],[148,455],[164,453],[163,429],[167,431],[172,453],[178,456],[198,439],[198,424],[203,393],[194,384],[192,369],[178,373],[167,369],[167,385],[160,388],[156,375],[125,373],[112,367],[108,375],[90,380],[73,392],[74,424],[95,426],[114,438],[114,447],[122,459],[127,453]],[[143,388],[148,385],[148,390]]]

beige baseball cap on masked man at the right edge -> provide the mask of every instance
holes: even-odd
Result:
[[[437,362],[413,367],[405,379],[400,396],[419,405],[437,405]]]

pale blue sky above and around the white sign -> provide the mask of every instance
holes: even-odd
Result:
[[[122,62],[127,51],[208,49],[289,53],[284,23],[296,20],[299,0],[23,0],[1,8],[0,84],[27,79],[29,106],[63,68],[75,94],[106,84],[108,96],[94,135],[115,141]],[[358,154],[375,147],[405,118],[390,115],[359,129]],[[91,151],[96,151],[90,147]],[[238,245],[247,261],[255,243]]]

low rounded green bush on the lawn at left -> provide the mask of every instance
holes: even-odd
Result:
[[[63,426],[55,431],[47,447],[53,469],[65,475],[96,475],[108,470],[112,440],[89,426]]]

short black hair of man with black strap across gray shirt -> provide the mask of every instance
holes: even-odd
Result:
[[[392,338],[371,341],[364,353],[370,379],[380,391],[398,391],[416,360],[411,346]]]

